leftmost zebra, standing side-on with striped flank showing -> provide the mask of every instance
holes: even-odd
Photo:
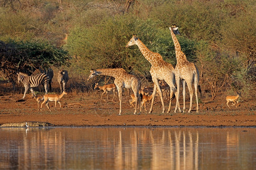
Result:
[[[38,87],[40,84],[43,84],[44,89],[46,90],[46,94],[48,92],[48,87],[49,87],[49,76],[41,73],[37,75],[30,75],[28,76],[26,73],[17,73],[18,75],[18,83],[22,82],[23,86],[25,87],[24,95],[22,99],[25,98],[27,90],[30,89],[32,94],[34,93],[34,90],[32,87]]]

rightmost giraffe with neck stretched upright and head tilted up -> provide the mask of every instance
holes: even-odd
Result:
[[[194,63],[189,62],[185,54],[181,51],[180,43],[177,40],[175,35],[179,35],[179,30],[176,25],[172,25],[169,28],[171,31],[172,40],[174,41],[175,46],[175,54],[177,59],[177,64],[175,66],[175,79],[177,84],[177,95],[176,95],[176,107],[175,113],[177,111],[178,101],[179,101],[179,94],[180,94],[180,80],[183,82],[183,112],[185,112],[185,83],[187,83],[188,91],[190,95],[190,107],[188,113],[191,112],[192,109],[192,98],[193,98],[193,89],[192,83],[194,82],[195,86],[195,94],[196,94],[196,112],[198,112],[198,97],[197,97],[197,87],[199,88],[199,92],[201,92],[201,88],[199,86],[199,71]]]

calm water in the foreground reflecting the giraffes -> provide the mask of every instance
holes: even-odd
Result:
[[[0,169],[256,169],[255,128],[0,128]]]

